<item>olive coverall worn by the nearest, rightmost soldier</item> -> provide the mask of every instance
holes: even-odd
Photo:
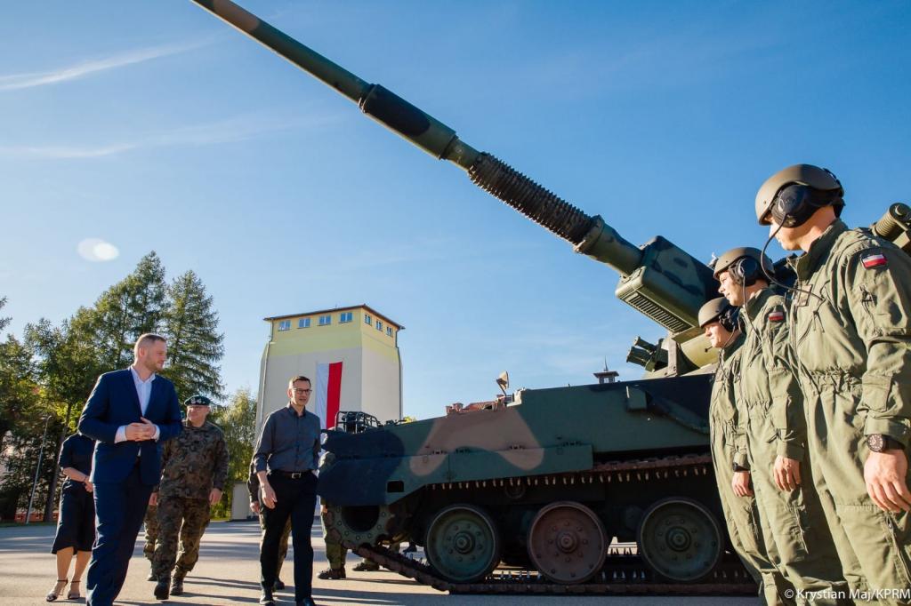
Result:
[[[844,530],[836,545],[845,574],[873,590],[907,590],[911,514],[875,506],[864,463],[869,434],[896,439],[908,454],[911,258],[836,220],[792,264],[797,288],[812,293],[794,293],[789,320],[808,448],[816,487],[834,502],[829,525]]]

